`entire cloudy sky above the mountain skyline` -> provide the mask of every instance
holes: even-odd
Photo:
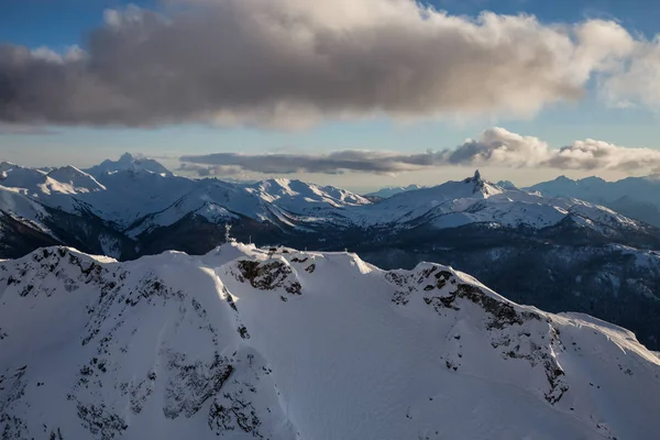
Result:
[[[660,173],[659,19],[656,0],[1,0],[0,160],[132,152],[351,189]]]

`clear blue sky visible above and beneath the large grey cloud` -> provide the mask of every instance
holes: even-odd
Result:
[[[128,3],[120,0],[0,0],[0,42],[31,48],[46,46],[57,52],[70,45],[85,47],[88,32],[102,23],[103,10]],[[158,8],[155,1],[131,3]],[[660,31],[660,4],[656,0],[436,0],[433,4],[452,14],[475,15],[482,10],[502,14],[525,12],[543,23],[575,23],[593,18],[616,20],[631,34],[646,38],[652,38]],[[587,87],[592,89],[593,84]],[[157,129],[52,127],[46,134],[0,135],[0,160],[26,165],[74,163],[87,166],[103,157],[119,156],[124,151],[163,157],[237,151],[316,153],[367,148],[419,152],[454,147],[493,125],[538,136],[557,147],[591,138],[624,146],[660,148],[659,122],[652,110],[607,108],[595,94],[590,94],[576,103],[546,107],[530,119],[435,120],[407,124],[383,117],[341,122],[326,120],[302,131],[201,124]],[[534,178],[526,176],[520,179]],[[405,177],[406,182],[416,178],[415,175]],[[378,186],[386,184],[385,180],[367,179],[361,186]],[[360,185],[359,177],[352,177],[351,182],[353,186]]]

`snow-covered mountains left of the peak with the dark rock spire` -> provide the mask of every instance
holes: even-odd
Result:
[[[222,222],[242,216],[295,227],[292,215],[299,217],[302,226],[311,212],[316,218],[319,210],[371,204],[343,189],[300,180],[237,185],[189,179],[173,175],[156,161],[128,153],[87,172],[69,166],[45,173],[3,163],[0,173],[0,185],[6,188],[67,213],[92,215],[129,237],[168,227],[190,215]]]

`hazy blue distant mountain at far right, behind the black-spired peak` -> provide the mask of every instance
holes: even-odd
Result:
[[[601,204],[625,216],[660,227],[660,175],[606,182],[598,177],[572,180],[561,176],[528,188],[548,197],[573,197]]]

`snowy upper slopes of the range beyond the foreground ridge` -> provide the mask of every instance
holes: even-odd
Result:
[[[499,186],[479,172],[461,182],[407,190],[375,204],[343,189],[286,178],[255,184],[194,180],[166,172],[153,160],[131,155],[87,172],[68,166],[45,173],[2,163],[0,176],[0,187],[69,213],[95,215],[132,239],[188,216],[216,223],[245,217],[301,231],[397,230],[422,223],[436,229],[480,223],[539,230],[565,219],[604,234],[646,228],[603,206]]]

